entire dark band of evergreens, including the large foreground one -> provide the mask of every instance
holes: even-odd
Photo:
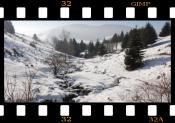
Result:
[[[171,34],[170,23],[165,23],[162,27],[159,36],[168,36]],[[135,70],[138,67],[143,66],[144,51],[150,44],[156,42],[158,35],[154,27],[147,23],[145,27],[130,30],[126,34],[123,31],[118,35],[114,34],[111,39],[104,39],[102,42],[97,39],[96,43],[92,41],[86,44],[81,40],[77,43],[76,39],[58,40],[54,39],[55,49],[61,52],[74,56],[81,56],[81,52],[87,50],[85,57],[91,58],[96,55],[104,55],[109,52],[117,50],[117,46],[121,43],[122,50],[125,50],[125,68],[126,70]],[[66,48],[66,49],[65,49]]]

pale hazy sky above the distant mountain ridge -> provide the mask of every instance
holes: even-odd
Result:
[[[33,35],[34,33],[42,33],[44,31],[70,25],[70,24],[86,24],[86,25],[126,25],[130,27],[143,27],[146,23],[151,23],[159,33],[162,26],[167,21],[12,21],[15,31],[22,34]]]

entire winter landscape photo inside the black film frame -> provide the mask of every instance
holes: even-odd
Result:
[[[5,102],[171,102],[171,21],[4,21]]]

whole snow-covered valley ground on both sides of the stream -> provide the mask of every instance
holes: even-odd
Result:
[[[32,79],[35,102],[137,102],[133,97],[142,81],[157,83],[160,73],[171,77],[170,36],[159,38],[145,49],[144,67],[135,71],[126,71],[125,53],[116,52],[91,59],[73,57],[72,64],[79,70],[63,78],[55,78],[44,62],[56,52],[52,46],[37,42],[33,47],[31,42],[33,39],[25,35],[4,34],[4,86],[9,81],[16,83],[15,93],[20,93],[27,75],[35,73]]]

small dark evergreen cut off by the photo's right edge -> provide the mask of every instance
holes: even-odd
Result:
[[[165,25],[163,26],[159,36],[164,37],[164,36],[168,36],[168,35],[171,35],[171,25],[170,25],[170,23],[166,22]]]

